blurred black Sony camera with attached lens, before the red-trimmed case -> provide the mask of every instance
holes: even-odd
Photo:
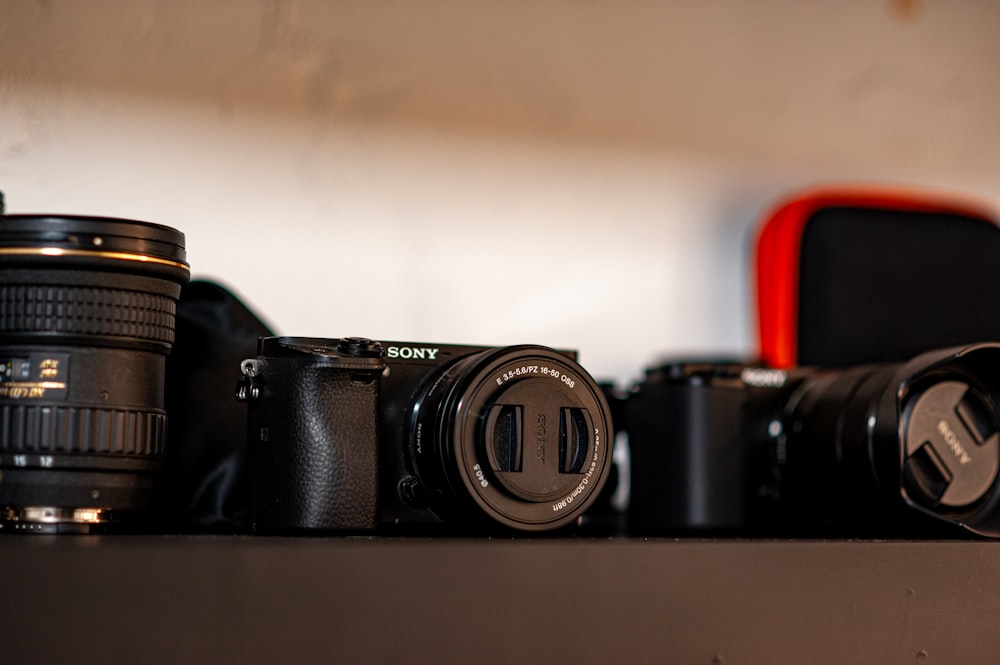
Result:
[[[667,363],[624,413],[634,533],[1000,536],[1000,344],[836,370]]]

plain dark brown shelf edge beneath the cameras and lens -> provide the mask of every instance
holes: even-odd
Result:
[[[973,663],[1000,543],[5,536],[4,663]]]

